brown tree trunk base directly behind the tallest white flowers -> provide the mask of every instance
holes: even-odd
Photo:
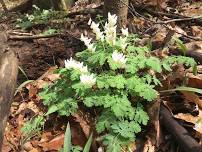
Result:
[[[104,16],[108,12],[118,16],[118,29],[123,27],[127,21],[129,0],[104,0]]]

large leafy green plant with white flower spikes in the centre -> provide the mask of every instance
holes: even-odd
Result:
[[[178,63],[196,65],[188,57],[152,56],[148,47],[134,46],[134,36],[127,28],[117,35],[116,23],[117,16],[108,13],[102,31],[90,19],[88,25],[96,40],[82,34],[87,49],[77,53],[76,60],[66,60],[65,68],[57,71],[60,79],[41,92],[48,114],[73,115],[79,105],[96,111],[96,131],[108,152],[127,147],[147,125],[149,116],[144,105],[158,98],[155,86],[162,85],[158,73],[170,72]]]

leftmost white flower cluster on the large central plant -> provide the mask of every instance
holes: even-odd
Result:
[[[88,73],[88,68],[83,65],[83,62],[78,62],[72,58],[65,60],[65,68],[78,70],[81,73]]]

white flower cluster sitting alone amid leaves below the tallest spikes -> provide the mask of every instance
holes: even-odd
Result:
[[[125,67],[126,64],[126,58],[125,55],[123,53],[118,53],[116,50],[113,52],[112,54],[112,60],[119,64],[121,66],[121,68]]]

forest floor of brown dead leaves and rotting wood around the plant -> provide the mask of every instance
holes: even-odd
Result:
[[[175,88],[179,82],[184,81],[183,77],[186,75],[187,86],[202,89],[202,3],[199,1],[167,3],[162,4],[160,10],[156,10],[154,2],[148,2],[144,7],[139,3],[135,4],[129,8],[127,27],[130,33],[136,33],[142,38],[140,42],[142,45],[150,41],[152,51],[160,57],[183,54],[183,48],[186,48],[185,54],[193,57],[198,63],[197,75],[192,73],[192,69],[175,67],[175,70],[166,76],[165,88]],[[86,130],[90,127],[84,119],[85,113],[68,118],[52,114],[46,120],[43,130],[33,135],[31,139],[25,139],[21,128],[28,120],[47,111],[38,93],[45,85],[58,79],[54,70],[64,67],[65,59],[85,48],[80,41],[80,35],[90,33],[87,22],[89,18],[98,21],[102,19],[98,16],[102,15],[100,12],[102,4],[77,3],[68,15],[63,14],[62,17],[56,15],[56,18],[51,18],[45,23],[38,21],[29,26],[27,23],[17,23],[17,19],[22,19],[25,13],[4,14],[3,10],[0,12],[0,32],[7,32],[9,47],[17,53],[20,67],[18,88],[4,135],[3,152],[58,151],[63,146],[67,122],[70,122],[71,126],[72,143],[81,147],[85,145],[89,136]],[[41,33],[51,30],[60,32],[59,34],[53,32],[50,37],[40,37]],[[180,40],[179,43],[171,43],[173,35]],[[160,98],[161,104],[169,109],[174,121],[177,120],[191,138],[201,145],[201,94],[180,91],[162,94]],[[183,152],[181,147],[184,144],[183,140],[186,139],[176,139],[172,136],[174,130],[167,129],[159,117],[156,117],[157,114],[153,114],[159,109],[159,102],[149,109],[150,116],[153,116],[152,122],[145,128],[145,133],[137,138],[136,143],[133,143],[134,151],[136,149],[137,152],[153,152],[156,147],[156,151],[159,152]]]

